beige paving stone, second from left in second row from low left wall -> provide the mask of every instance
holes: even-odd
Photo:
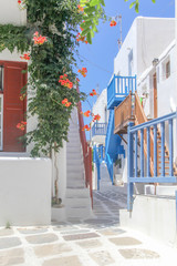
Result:
[[[30,244],[44,244],[44,243],[55,242],[59,238],[54,234],[43,234],[43,235],[27,236],[25,239]]]

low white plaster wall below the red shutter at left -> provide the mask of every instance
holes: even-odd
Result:
[[[0,226],[51,222],[49,158],[0,157]]]

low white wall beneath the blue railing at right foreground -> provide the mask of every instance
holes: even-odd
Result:
[[[175,200],[138,195],[131,216],[126,209],[121,209],[119,221],[121,226],[140,231],[168,244],[177,244]]]

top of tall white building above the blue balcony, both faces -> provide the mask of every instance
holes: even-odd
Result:
[[[132,75],[139,75],[175,38],[175,19],[137,17],[114,59],[114,73],[129,75],[128,55],[133,52]]]

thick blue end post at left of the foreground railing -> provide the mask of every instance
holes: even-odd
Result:
[[[127,151],[127,211],[132,212],[133,209],[133,194],[134,194],[134,184],[129,182],[129,177],[133,177],[134,164],[133,164],[133,134],[131,133],[131,127],[133,122],[128,123],[128,151]]]

